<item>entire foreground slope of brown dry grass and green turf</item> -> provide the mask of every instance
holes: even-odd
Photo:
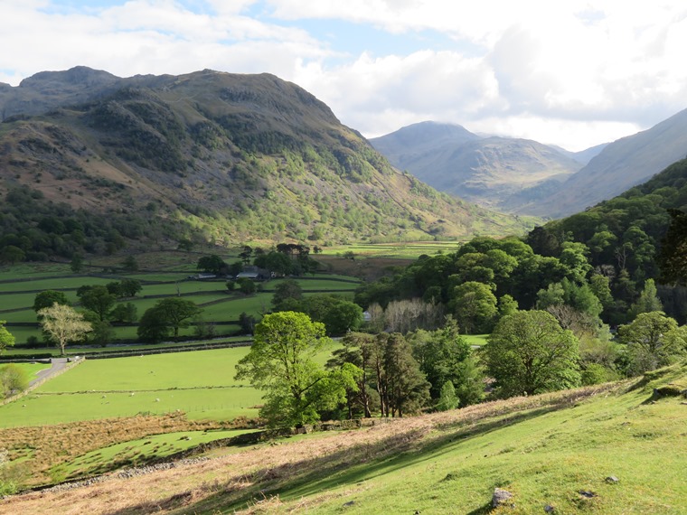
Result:
[[[509,513],[682,513],[687,408],[683,398],[651,401],[668,383],[685,388],[687,365],[15,497],[0,512],[479,514],[502,487],[515,496]]]

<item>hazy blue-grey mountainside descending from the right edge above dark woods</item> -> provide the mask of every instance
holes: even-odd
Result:
[[[560,192],[520,212],[560,218],[584,211],[644,183],[686,155],[687,109],[648,130],[608,144],[572,175]]]

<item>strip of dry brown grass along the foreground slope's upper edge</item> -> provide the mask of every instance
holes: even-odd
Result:
[[[305,483],[353,463],[380,460],[469,434],[478,430],[480,424],[508,425],[518,414],[570,406],[617,388],[617,385],[602,385],[541,397],[512,398],[334,435],[310,435],[254,446],[238,454],[184,464],[134,479],[118,479],[112,473],[108,481],[87,487],[66,492],[33,492],[5,499],[0,501],[0,513],[137,515],[185,513],[192,506],[193,511],[211,513],[231,503],[244,503],[248,506],[244,513],[248,514],[282,512],[284,507],[274,494],[287,482]],[[324,492],[303,502],[321,501],[327,495],[331,494]],[[298,510],[298,506],[290,504],[289,510]]]

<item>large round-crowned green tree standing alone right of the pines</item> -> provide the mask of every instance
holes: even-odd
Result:
[[[544,311],[519,311],[496,324],[482,352],[503,398],[579,385],[578,340]]]

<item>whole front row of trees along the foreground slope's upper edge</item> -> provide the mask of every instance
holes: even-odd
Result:
[[[603,364],[609,356],[625,360],[627,370],[638,374],[684,358],[687,327],[662,312],[639,314],[621,327],[618,343],[590,351],[553,314],[515,310],[475,352],[448,316],[433,331],[348,332],[321,366],[315,357],[326,342],[325,325],[303,313],[267,314],[256,325],[236,379],[265,392],[260,415],[270,426],[464,407],[485,397],[486,378],[494,398],[595,384],[613,379]],[[596,360],[586,361],[585,352]]]

